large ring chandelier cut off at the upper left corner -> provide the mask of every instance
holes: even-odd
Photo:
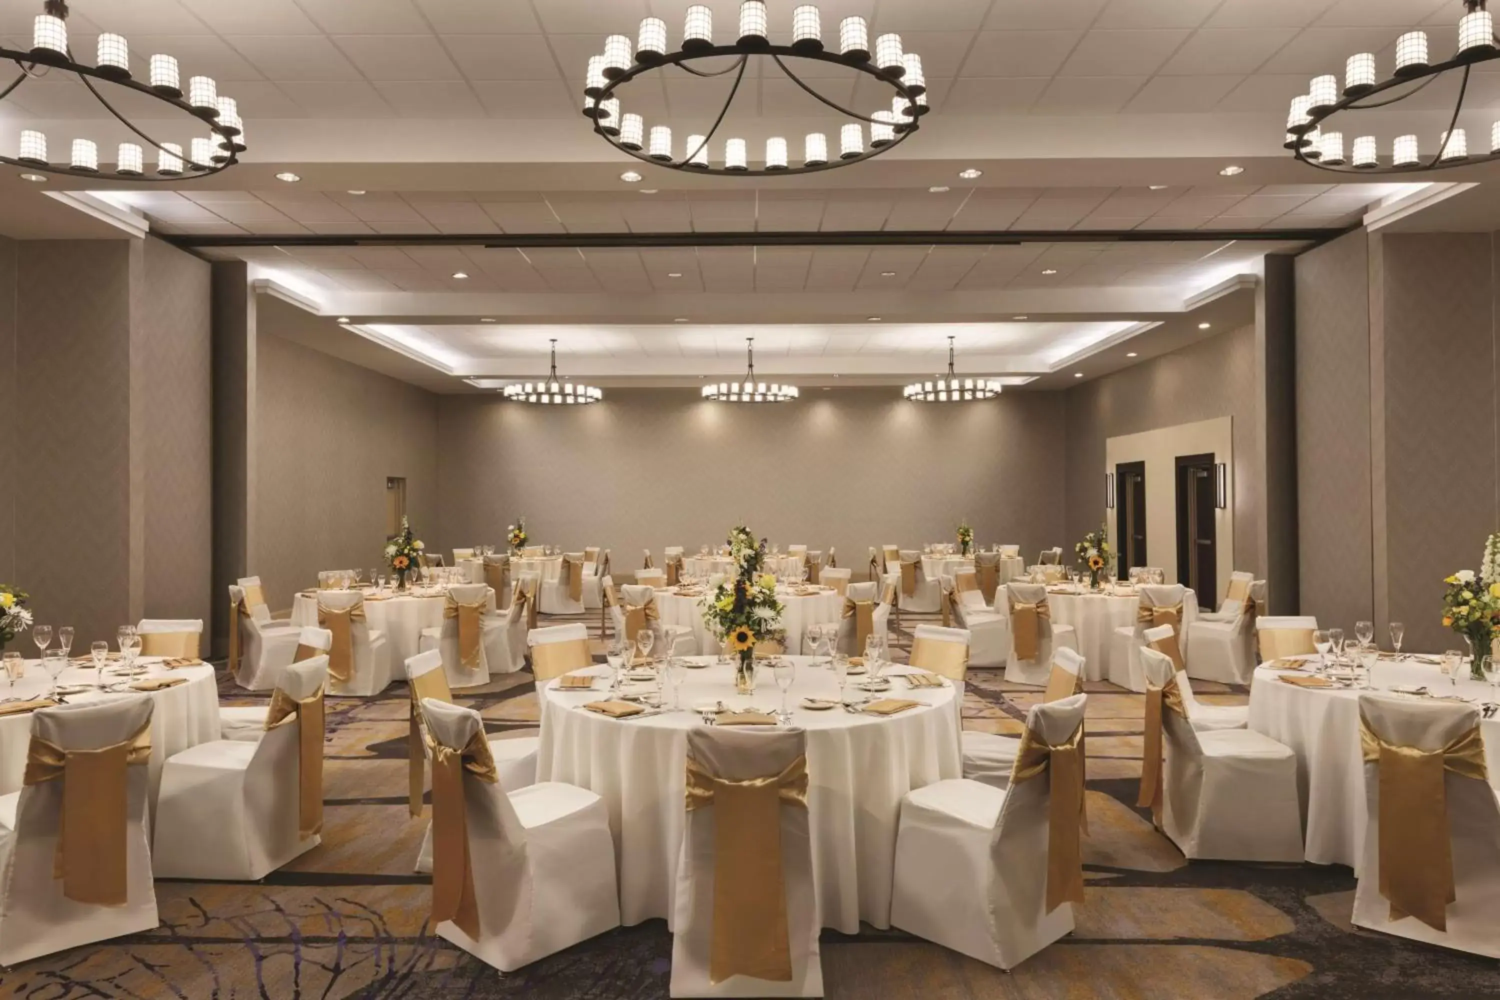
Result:
[[[48,157],[46,135],[36,129],[21,132],[15,156],[0,153],[0,162],[26,169],[51,174],[74,174],[78,177],[105,177],[126,181],[162,181],[182,177],[207,177],[232,166],[244,151],[244,129],[238,106],[232,97],[220,97],[212,76],[190,76],[186,96],[177,70],[177,60],[156,54],[150,58],[150,79],[141,82],[130,75],[130,48],[124,36],[105,31],[99,36],[98,58],[93,66],[74,58],[68,46],[68,3],[45,0],[44,13],[36,15],[30,51],[0,46],[0,58],[14,61],[21,73],[9,85],[0,87],[0,100],[9,97],[21,84],[57,73],[72,73],[88,88],[88,93],[104,105],[104,109],[126,129],[140,136],[141,142],[120,142],[116,150],[114,169],[99,165],[99,144],[93,139],[75,138],[68,162]],[[100,93],[94,81],[134,90],[153,97],[162,105],[184,112],[198,127],[207,127],[207,136],[195,136],[188,153],[178,142],[159,142],[118,111]],[[146,147],[153,150],[156,160],[152,172],[146,169]]]

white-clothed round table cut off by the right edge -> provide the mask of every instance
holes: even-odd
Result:
[[[1290,658],[1290,657],[1288,657]],[[1316,660],[1317,657],[1304,657]],[[1488,702],[1490,685],[1467,678],[1449,684],[1436,664],[1407,658],[1376,664],[1374,687],[1425,685],[1432,694]],[[1298,793],[1306,834],[1304,856],[1318,865],[1348,865],[1359,874],[1365,847],[1365,771],[1359,747],[1360,688],[1299,688],[1258,667],[1250,685],[1250,727],[1298,756]],[[1362,681],[1360,681],[1362,682]],[[1491,783],[1500,777],[1500,718],[1479,721]]]

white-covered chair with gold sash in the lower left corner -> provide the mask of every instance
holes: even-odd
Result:
[[[69,763],[38,768],[20,792],[0,796],[0,967],[148,931],[160,922],[144,766],[153,708],[150,696],[128,694],[32,714],[30,753],[60,754]],[[108,747],[129,747],[117,759],[118,769],[96,765],[74,771],[75,759],[87,762],[88,751]],[[69,772],[84,789],[66,789]],[[118,784],[124,795],[110,795]],[[78,840],[64,849],[58,841],[69,792],[96,807],[86,814]]]

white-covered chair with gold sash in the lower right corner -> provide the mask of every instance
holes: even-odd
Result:
[[[1359,721],[1366,825],[1354,927],[1500,958],[1500,810],[1479,709],[1360,694]]]

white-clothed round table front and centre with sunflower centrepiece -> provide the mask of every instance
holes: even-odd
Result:
[[[891,717],[837,708],[813,712],[798,706],[801,699],[838,697],[837,681],[807,657],[792,660],[796,679],[788,697],[792,724],[807,730],[807,810],[824,927],[844,934],[858,933],[860,921],[886,928],[902,796],[960,775],[956,688],[948,682],[909,691],[897,681],[874,697],[910,699],[924,706]],[[711,657],[693,657],[690,663],[708,666],[684,672],[684,706],[720,700],[729,708],[780,705],[782,693],[764,666],[756,693],[740,697],[734,694],[730,664],[716,664]],[[608,667],[578,673],[608,675]],[[615,835],[622,922],[670,922],[682,841],[687,730],[700,726],[702,718],[678,711],[615,720],[585,711],[588,702],[606,697],[606,684],[596,682],[598,691],[562,691],[555,682],[544,688],[537,781],[566,781],[604,799]]]

